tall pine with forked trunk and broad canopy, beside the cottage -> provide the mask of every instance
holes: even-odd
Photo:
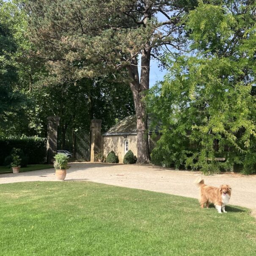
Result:
[[[149,161],[147,114],[151,58],[184,46],[182,16],[196,0],[31,0],[30,40],[57,79],[116,73],[127,80],[137,117],[138,163]]]

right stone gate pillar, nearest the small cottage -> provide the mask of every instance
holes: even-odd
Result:
[[[96,162],[96,154],[101,151],[101,119],[92,119],[91,131],[91,162]]]

